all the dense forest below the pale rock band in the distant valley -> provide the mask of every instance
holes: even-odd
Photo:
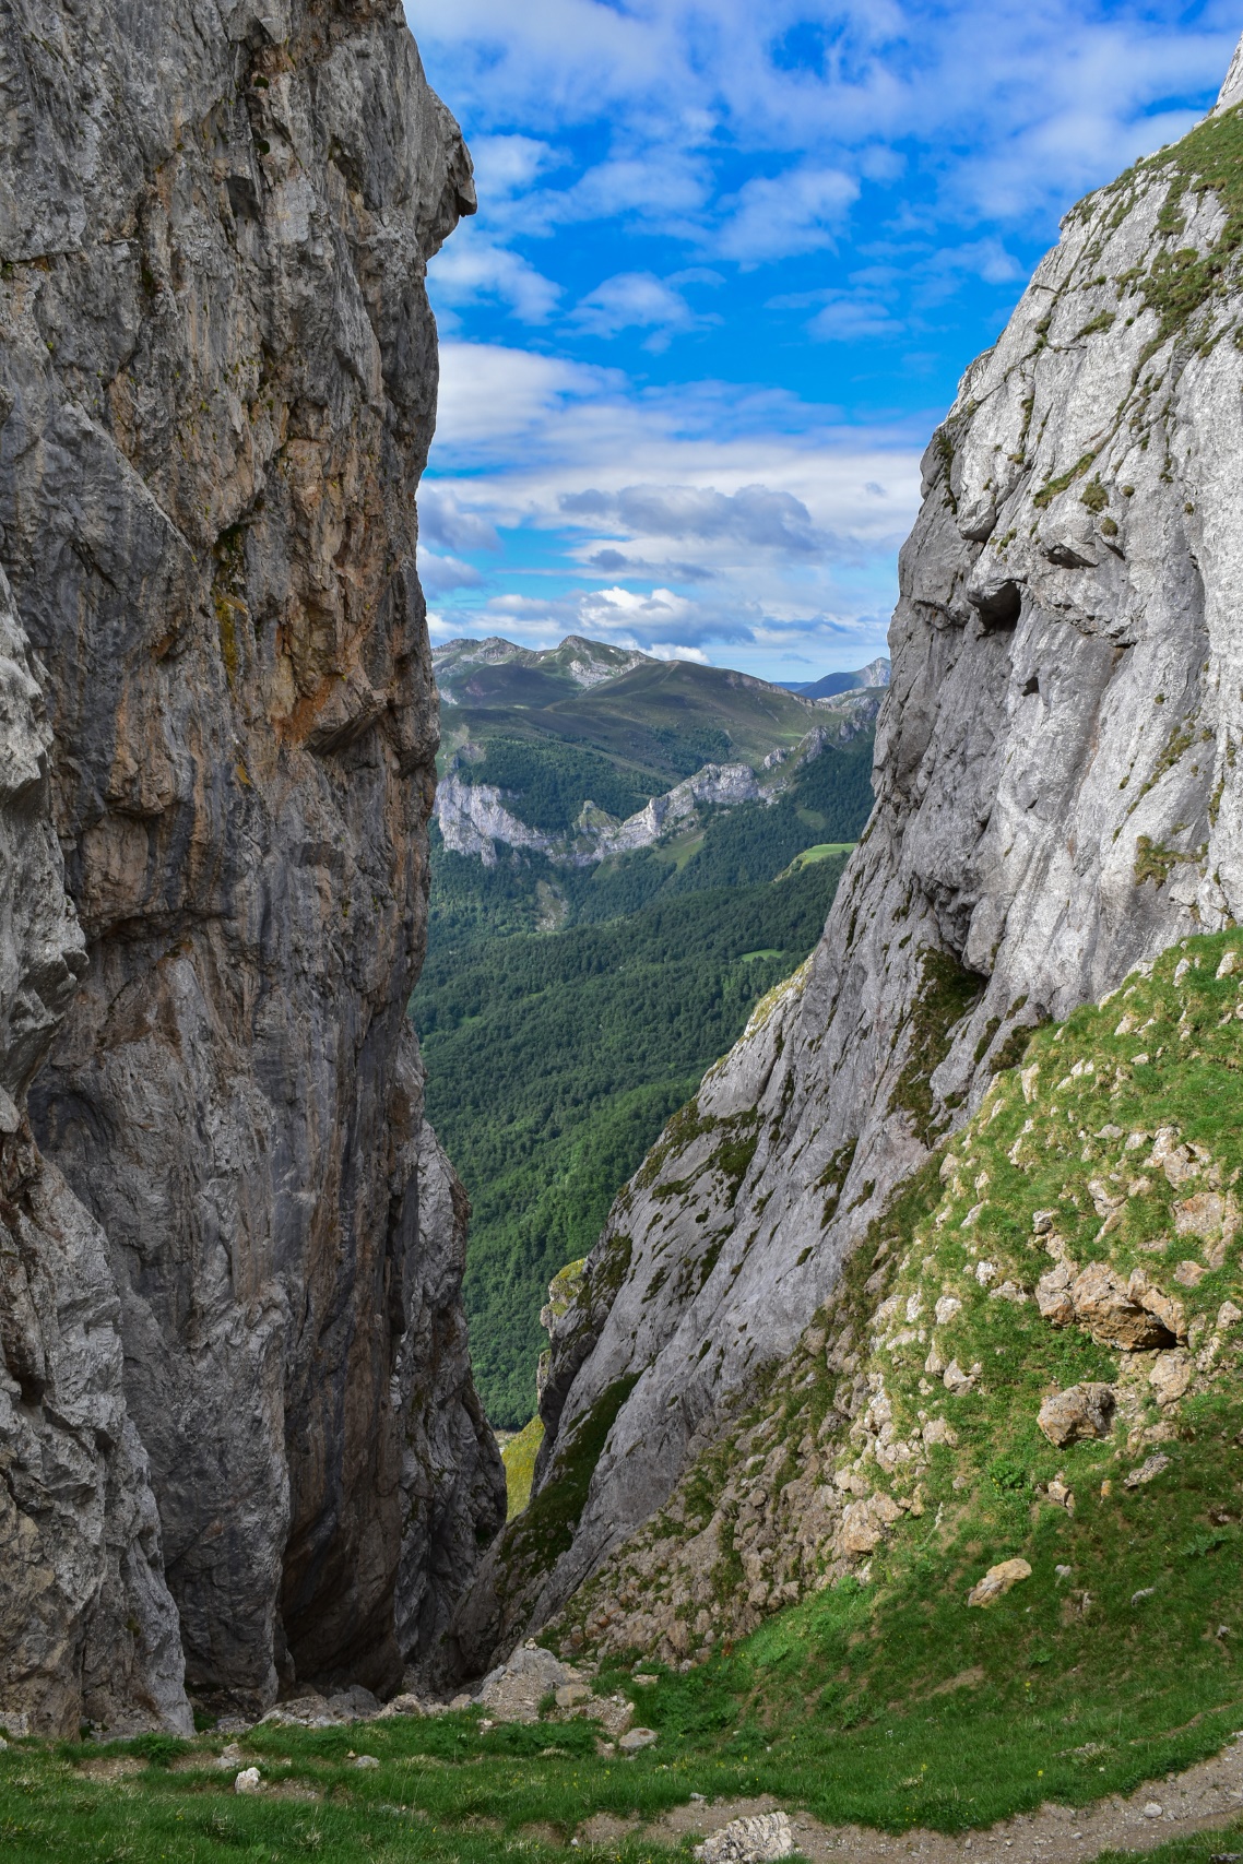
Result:
[[[432,829],[412,1016],[429,1117],[473,1206],[466,1309],[494,1426],[535,1407],[550,1279],[591,1249],[665,1120],[820,938],[870,807],[870,734],[827,747],[777,803],[708,811],[669,844],[581,869],[503,848],[485,867]],[[548,822],[611,774],[580,747],[496,738],[483,768]]]

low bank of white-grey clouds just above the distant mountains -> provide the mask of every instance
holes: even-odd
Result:
[[[615,371],[447,343],[421,492],[438,535],[542,539],[455,598],[455,632],[628,637],[760,673],[773,654],[863,662],[883,649],[924,427],[854,429],[714,382],[639,391]]]

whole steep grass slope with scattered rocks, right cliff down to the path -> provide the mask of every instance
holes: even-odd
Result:
[[[1219,977],[1228,954],[1239,967]],[[701,1741],[716,1719],[723,1756],[751,1756],[751,1789],[893,1829],[1083,1804],[1239,1726],[1241,982],[1237,934],[1191,939],[1042,1031],[872,1227],[799,1353],[650,1525],[645,1607],[663,1588],[688,1631],[701,1612],[721,1627],[686,1638],[712,1652],[703,1668],[645,1696],[652,1726]],[[1163,1128],[1178,1184],[1152,1163]],[[1219,1236],[1193,1202],[1213,1197]],[[1155,1351],[1124,1355],[1040,1314],[1031,1292],[1053,1260],[1038,1212],[1079,1268],[1142,1269],[1183,1303],[1182,1400],[1157,1402]],[[962,1305],[934,1323],[943,1295]],[[978,1368],[969,1391],[930,1374],[934,1344]],[[1116,1385],[1113,1433],[1055,1448],[1040,1404],[1081,1381]],[[1127,1486],[1154,1454],[1168,1458],[1159,1474]],[[865,1564],[809,1543],[814,1484],[893,1504]],[[717,1560],[676,1605],[680,1547],[714,1521]],[[1031,1579],[967,1607],[1016,1556]],[[634,1549],[580,1594],[565,1646],[608,1642],[632,1566]],[[755,1624],[757,1573],[772,1616],[734,1642],[731,1625]],[[785,1583],[803,1597],[773,1610]]]

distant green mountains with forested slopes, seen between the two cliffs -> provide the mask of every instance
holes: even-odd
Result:
[[[483,647],[509,658],[464,658]],[[535,1407],[552,1275],[591,1249],[665,1120],[816,943],[872,802],[867,712],[816,714],[721,669],[619,669],[594,652],[585,641],[552,654],[507,643],[445,652],[445,720],[471,746],[473,783],[496,785],[516,820],[557,835],[587,800],[626,816],[706,761],[738,759],[742,738],[764,800],[699,805],[652,846],[581,865],[503,843],[485,865],[432,828],[430,939],[412,1014],[429,1117],[473,1206],[471,1359],[498,1428]],[[561,738],[553,699],[578,692],[567,665],[593,684],[561,708],[572,712]],[[816,716],[837,744],[813,734],[805,746]]]

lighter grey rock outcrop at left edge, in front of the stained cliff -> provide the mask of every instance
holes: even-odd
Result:
[[[192,1734],[104,1238],[26,1118],[86,967],[39,673],[0,570],[0,1726]]]

